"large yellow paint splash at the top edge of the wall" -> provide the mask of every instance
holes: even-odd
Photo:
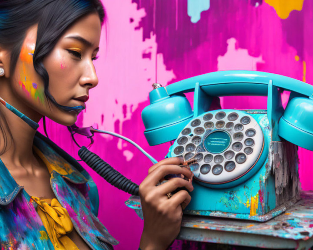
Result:
[[[293,10],[302,10],[304,0],[265,0],[281,19],[286,19]]]

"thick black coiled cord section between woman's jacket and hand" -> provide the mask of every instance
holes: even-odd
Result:
[[[139,186],[136,183],[127,179],[85,146],[80,148],[78,155],[90,168],[114,187],[132,195],[139,195]]]

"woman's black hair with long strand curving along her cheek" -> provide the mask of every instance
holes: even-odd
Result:
[[[103,24],[106,15],[100,0],[0,0],[0,46],[11,51],[11,75],[27,30],[38,23],[33,65],[43,79],[45,96],[62,108],[48,91],[49,75],[42,62],[75,21],[94,12]]]

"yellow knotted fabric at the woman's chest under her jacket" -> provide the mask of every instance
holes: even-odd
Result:
[[[65,234],[72,232],[73,223],[67,210],[57,199],[31,197],[37,203],[37,213],[47,230],[55,250],[79,250],[75,243]]]

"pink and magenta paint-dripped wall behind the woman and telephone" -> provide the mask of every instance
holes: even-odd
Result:
[[[227,69],[313,82],[313,3],[287,2],[281,9],[270,0],[103,0],[108,21],[95,63],[99,85],[90,91],[77,125],[120,133],[160,160],[170,144],[149,147],[141,122],[152,83]],[[287,98],[283,94],[284,102]],[[221,103],[223,108],[266,108],[263,97],[227,97]],[[65,127],[48,121],[47,128],[54,142],[78,158]],[[136,183],[151,166],[136,148],[111,136],[95,136],[91,150]],[[299,154],[302,188],[312,189],[313,153],[300,148]],[[99,218],[121,242],[115,249],[136,249],[143,223],[124,205],[129,195],[86,169],[99,188]]]

